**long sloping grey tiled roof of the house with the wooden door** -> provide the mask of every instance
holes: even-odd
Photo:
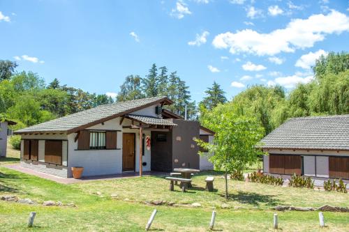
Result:
[[[70,114],[61,118],[33,125],[21,130],[15,134],[25,134],[33,132],[64,132],[67,134],[77,132],[92,125],[103,123],[112,118],[131,114],[134,111],[150,107],[156,104],[171,105],[172,101],[166,97],[142,98],[127,102],[117,102],[107,105],[101,105],[92,109]]]

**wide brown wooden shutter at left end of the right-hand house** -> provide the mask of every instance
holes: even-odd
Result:
[[[270,155],[269,172],[275,174],[301,175],[302,158],[300,155]]]

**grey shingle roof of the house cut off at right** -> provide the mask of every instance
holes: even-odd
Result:
[[[349,114],[291,118],[262,144],[262,148],[349,150]]]

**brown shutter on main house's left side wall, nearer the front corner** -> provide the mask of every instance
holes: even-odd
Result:
[[[62,141],[45,141],[45,162],[50,164],[62,164]]]

